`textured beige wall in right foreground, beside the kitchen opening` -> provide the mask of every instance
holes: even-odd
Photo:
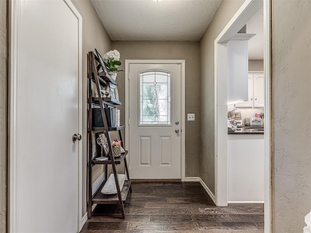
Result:
[[[311,210],[311,1],[272,1],[274,233]]]

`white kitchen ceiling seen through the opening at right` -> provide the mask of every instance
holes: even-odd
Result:
[[[246,24],[247,33],[256,33],[248,42],[248,59],[263,60],[263,8]]]

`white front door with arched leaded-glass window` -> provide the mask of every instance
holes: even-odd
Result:
[[[131,179],[181,179],[180,64],[129,65],[129,120]]]

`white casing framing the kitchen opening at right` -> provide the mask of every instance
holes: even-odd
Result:
[[[241,8],[214,41],[215,61],[215,199],[217,206],[227,206],[227,47],[226,43],[263,6],[264,33],[264,224],[271,232],[271,6],[270,0],[245,0]]]

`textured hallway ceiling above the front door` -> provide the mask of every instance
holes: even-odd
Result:
[[[111,40],[199,41],[222,0],[91,0]]]

